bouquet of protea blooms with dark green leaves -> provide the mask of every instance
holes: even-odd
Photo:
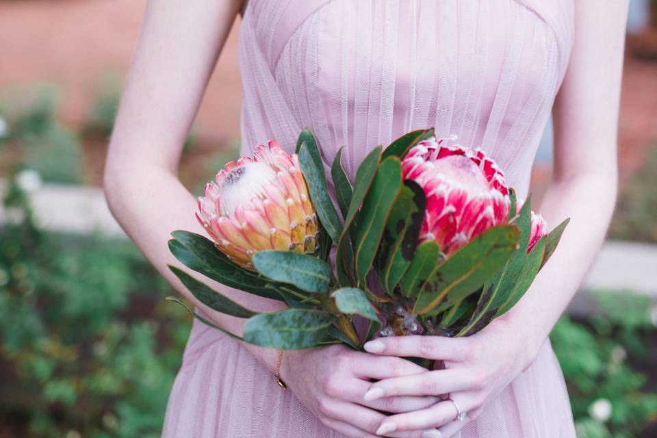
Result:
[[[169,248],[209,279],[285,302],[281,311],[246,309],[170,269],[211,309],[248,318],[240,339],[259,346],[472,335],[518,302],[568,220],[548,233],[493,159],[451,140],[407,133],[371,151],[353,183],[341,149],[330,168],[337,208],[309,129],[293,155],[270,141],[220,170],[196,213],[211,240],[174,231]],[[355,318],[366,322],[360,335]]]

